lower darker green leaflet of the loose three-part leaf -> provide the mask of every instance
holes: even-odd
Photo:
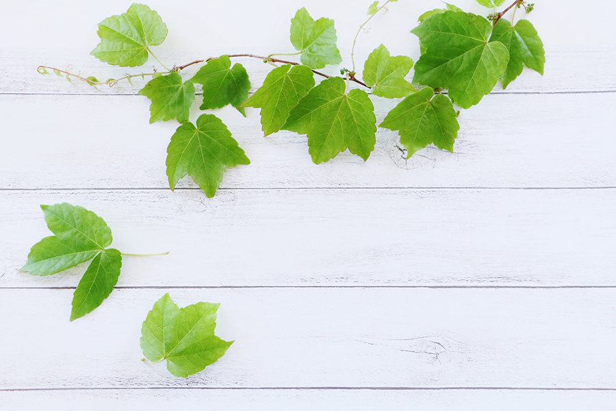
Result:
[[[106,249],[94,257],[75,290],[70,321],[92,312],[109,297],[118,282],[121,267],[122,256],[116,249]]]

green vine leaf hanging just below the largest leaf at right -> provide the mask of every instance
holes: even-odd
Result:
[[[460,126],[451,100],[422,88],[400,101],[379,127],[398,131],[400,142],[407,149],[407,158],[428,144],[453,153],[454,140]]]

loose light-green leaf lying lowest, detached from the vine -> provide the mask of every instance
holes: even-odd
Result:
[[[140,345],[144,357],[151,362],[167,360],[167,369],[176,377],[203,371],[233,344],[214,335],[219,306],[196,303],[178,308],[165,294],[143,322]]]

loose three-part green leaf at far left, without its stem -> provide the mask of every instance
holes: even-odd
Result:
[[[37,242],[28,254],[22,271],[32,275],[51,275],[92,260],[73,297],[73,321],[101,305],[112,292],[122,266],[112,243],[111,229],[101,217],[69,203],[40,206],[47,227],[55,236]]]

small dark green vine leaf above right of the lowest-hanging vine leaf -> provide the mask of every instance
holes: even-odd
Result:
[[[205,66],[192,77],[192,82],[203,85],[203,104],[201,110],[222,108],[227,104],[233,105],[245,117],[244,108],[240,108],[248,99],[248,90],[251,82],[248,73],[240,63],[233,64],[228,55],[209,60]]]

